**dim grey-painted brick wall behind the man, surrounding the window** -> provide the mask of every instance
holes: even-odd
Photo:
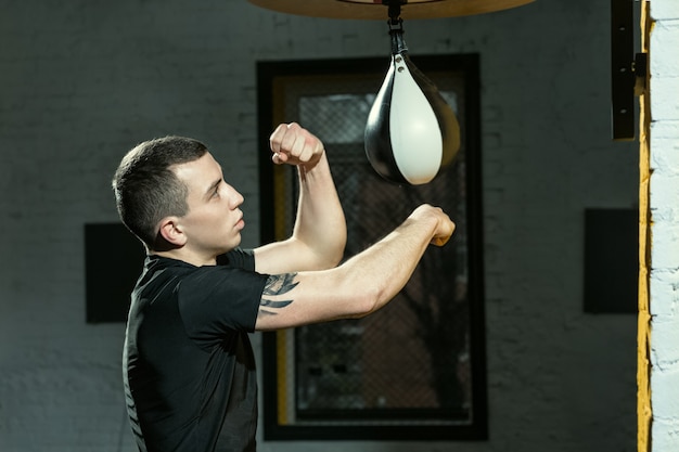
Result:
[[[632,450],[636,320],[581,310],[584,209],[637,202],[637,145],[611,141],[607,9],[538,0],[405,25],[415,64],[482,54],[490,440],[262,452]],[[123,325],[87,325],[84,312],[82,225],[116,220],[119,158],[159,134],[207,142],[246,197],[255,245],[255,62],[386,66],[386,25],[244,0],[0,0],[0,451],[131,451]]]

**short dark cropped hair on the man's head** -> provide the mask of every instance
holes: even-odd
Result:
[[[189,189],[171,170],[174,165],[197,160],[207,147],[197,140],[165,137],[145,141],[128,152],[113,178],[116,206],[123,223],[149,249],[158,244],[158,222],[182,217]]]

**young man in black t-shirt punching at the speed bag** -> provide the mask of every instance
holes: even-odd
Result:
[[[443,246],[454,230],[423,205],[337,267],[346,225],[323,144],[290,124],[270,145],[274,164],[297,167],[297,217],[289,240],[253,250],[240,248],[243,196],[202,143],[141,143],[115,173],[120,218],[148,251],[123,362],[140,451],[255,451],[248,333],[367,315],[403,287],[430,243]]]

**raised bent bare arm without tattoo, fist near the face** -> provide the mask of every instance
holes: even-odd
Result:
[[[272,160],[297,167],[299,201],[292,236],[255,249],[256,270],[285,273],[332,268],[346,245],[346,221],[323,143],[299,125],[280,125],[270,139]]]

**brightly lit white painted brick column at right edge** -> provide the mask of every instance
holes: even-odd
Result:
[[[679,451],[679,2],[652,0],[651,450]]]

